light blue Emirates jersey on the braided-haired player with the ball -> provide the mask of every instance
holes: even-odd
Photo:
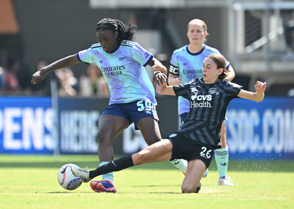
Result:
[[[121,41],[110,53],[103,51],[98,43],[80,51],[77,57],[79,61],[94,63],[101,69],[110,90],[109,105],[136,100],[157,105],[153,84],[144,68],[153,55],[138,43]]]

